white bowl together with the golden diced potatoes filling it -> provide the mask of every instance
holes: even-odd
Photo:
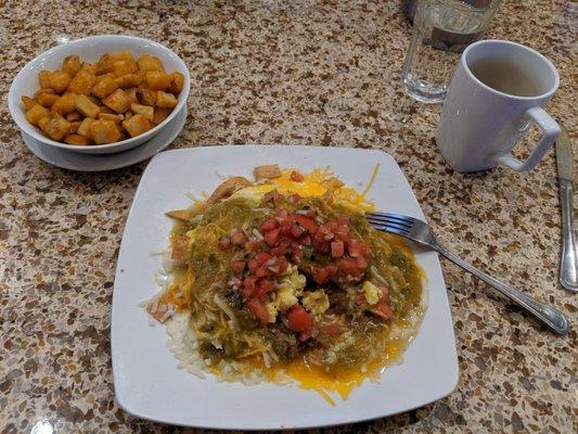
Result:
[[[110,154],[170,128],[190,86],[184,62],[160,43],[91,36],[30,61],[12,82],[9,108],[16,125],[41,143]]]

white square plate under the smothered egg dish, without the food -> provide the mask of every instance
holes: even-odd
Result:
[[[112,354],[116,399],[134,416],[178,425],[227,430],[327,426],[382,418],[442,398],[458,383],[458,357],[446,284],[437,254],[416,252],[427,275],[428,308],[400,366],[380,382],[365,381],[331,407],[316,392],[198,379],[177,368],[165,327],[150,327],[139,303],[159,289],[160,266],[151,252],[167,246],[172,226],[164,213],[190,205],[185,192],[210,192],[223,175],[252,176],[253,167],[278,163],[308,171],[330,165],[344,182],[362,188],[375,163],[368,195],[377,209],[424,218],[408,181],[385,152],[316,146],[241,145],[157,154],[144,171],[130,209],[113,295]]]

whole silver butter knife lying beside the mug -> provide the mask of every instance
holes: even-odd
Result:
[[[556,163],[560,183],[560,205],[562,208],[562,258],[560,283],[569,291],[578,291],[578,252],[574,233],[573,208],[573,153],[568,131],[560,124],[556,140]]]

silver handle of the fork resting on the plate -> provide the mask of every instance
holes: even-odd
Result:
[[[566,334],[569,330],[568,320],[558,309],[554,306],[548,305],[545,303],[538,302],[537,299],[530,297],[528,294],[525,294],[505,283],[499,281],[498,279],[492,278],[489,275],[478,270],[472,265],[463,261],[458,256],[449,253],[444,247],[439,246],[438,252],[444,255],[446,258],[451,260],[453,264],[462,267],[464,270],[471,272],[477,278],[481,279],[484,282],[493,286],[500,293],[505,295],[511,301],[515,302],[518,306],[523,307],[545,326],[552,329],[558,334]]]

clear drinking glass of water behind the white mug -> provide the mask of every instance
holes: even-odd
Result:
[[[441,102],[460,53],[479,39],[501,0],[420,0],[401,72],[406,93]]]

